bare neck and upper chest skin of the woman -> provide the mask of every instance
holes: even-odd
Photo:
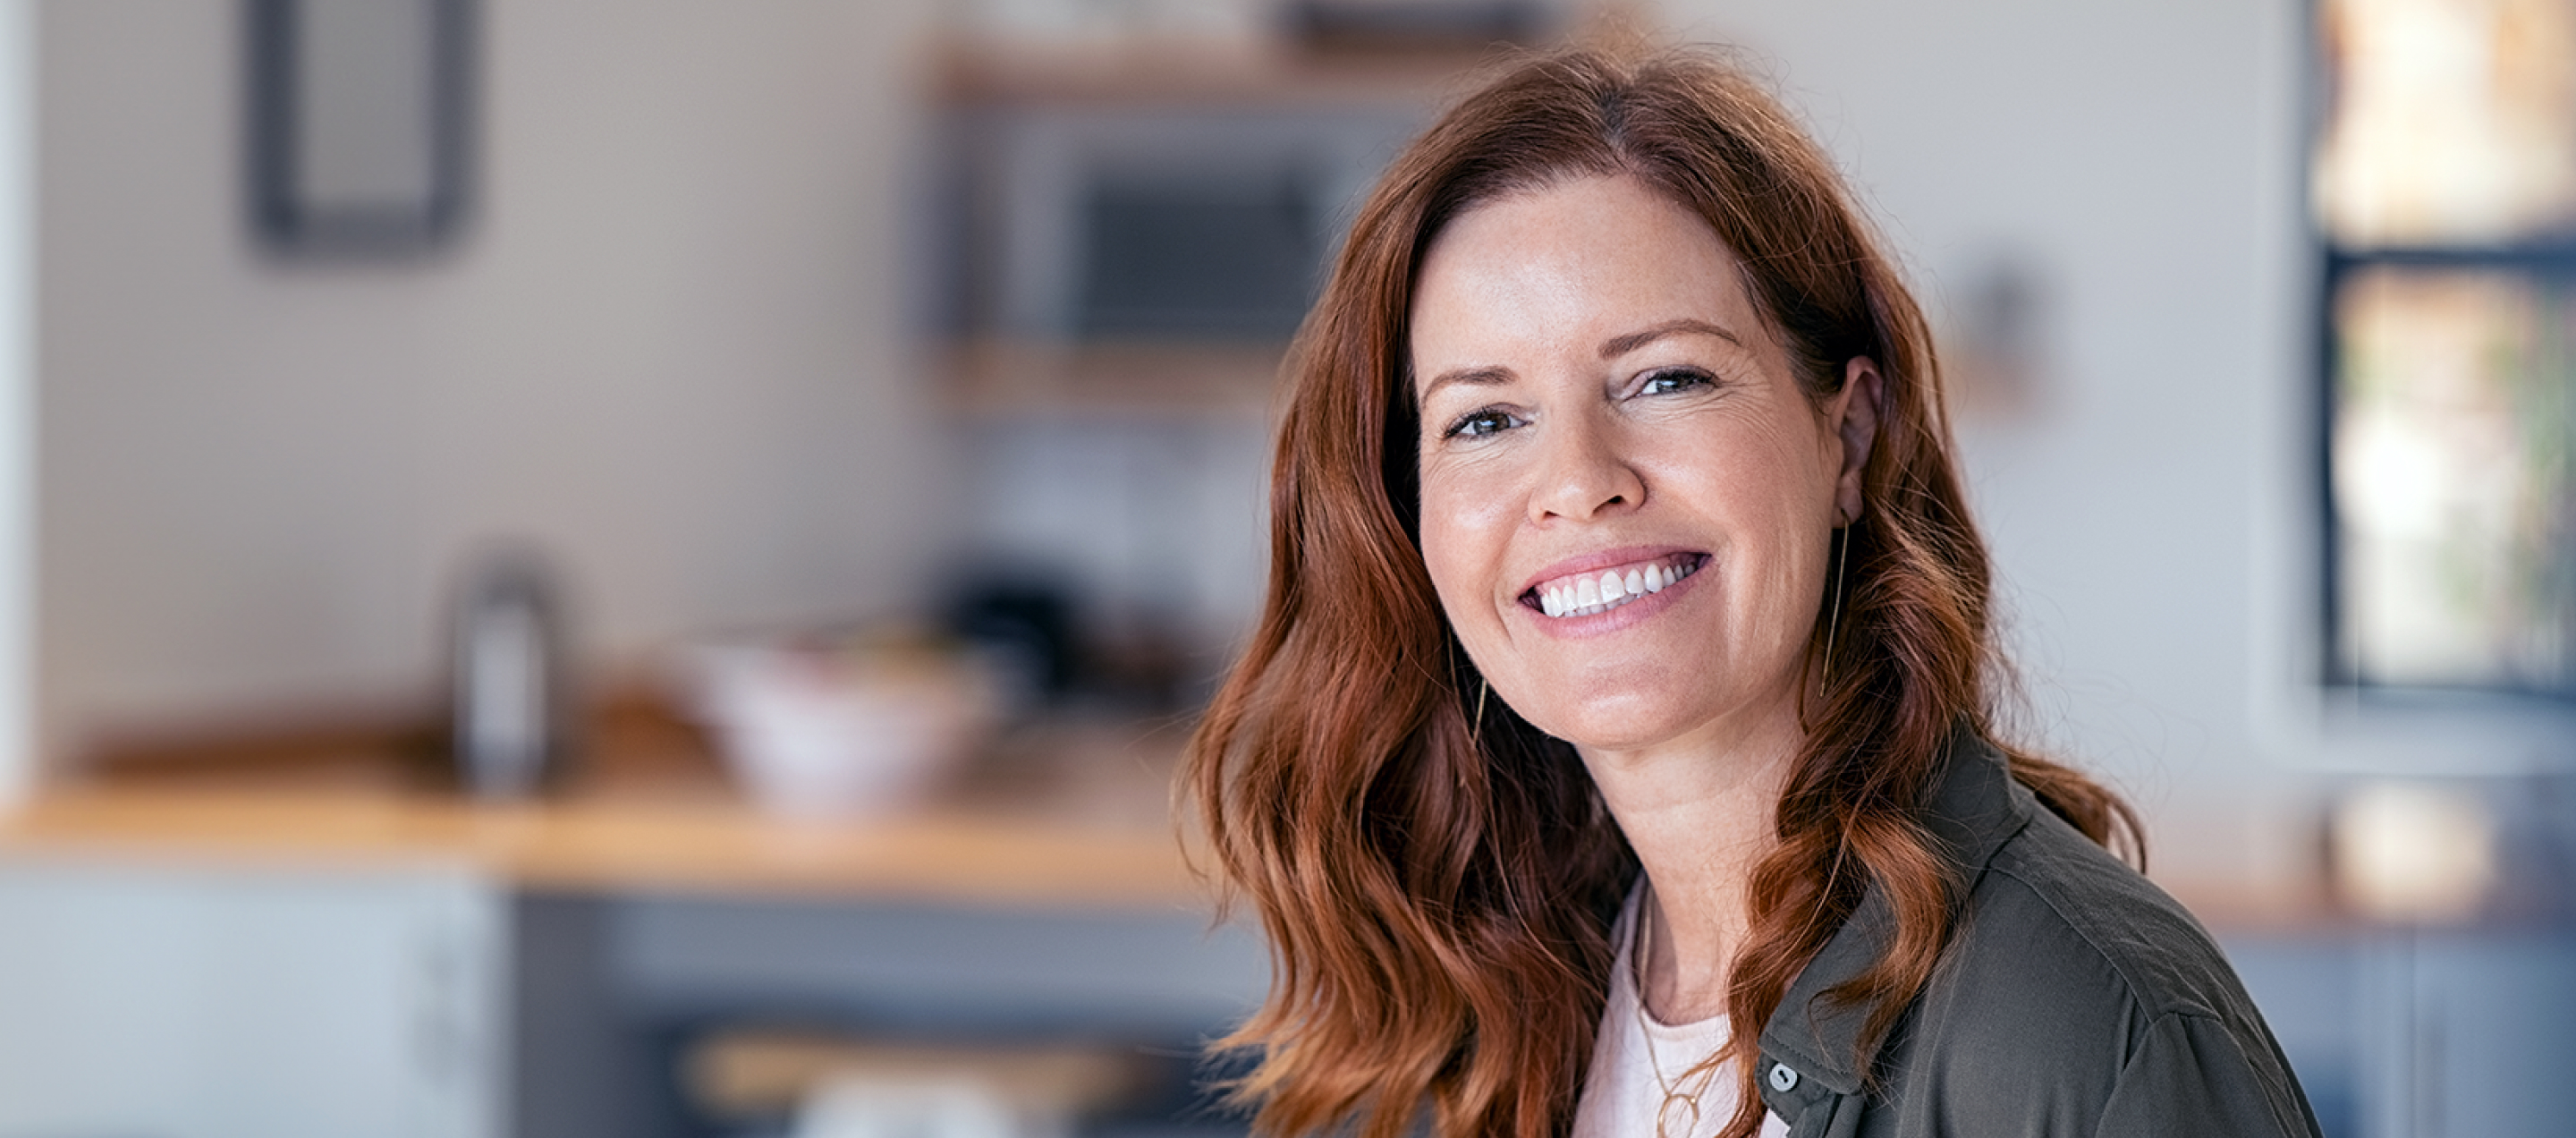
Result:
[[[1646,870],[1649,960],[1633,960],[1646,1012],[1695,1022],[1726,1012],[1726,981],[1749,927],[1754,865],[1777,844],[1780,790],[1798,760],[1795,713],[1754,731],[1602,752],[1584,749],[1592,783]]]

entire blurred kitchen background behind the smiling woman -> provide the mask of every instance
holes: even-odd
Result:
[[[2576,3],[0,0],[0,1138],[1242,1133],[1273,368],[1605,26],[1878,214],[2326,1133],[2566,1133]]]

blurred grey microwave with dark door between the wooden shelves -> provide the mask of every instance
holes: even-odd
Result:
[[[1283,342],[1430,106],[1020,100],[943,116],[933,327]]]

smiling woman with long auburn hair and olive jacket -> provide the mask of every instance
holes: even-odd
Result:
[[[1996,739],[1924,322],[1692,54],[1468,95],[1293,353],[1185,790],[1265,1133],[2313,1135],[2128,808]],[[1744,1025],[1744,1030],[1734,1030]]]

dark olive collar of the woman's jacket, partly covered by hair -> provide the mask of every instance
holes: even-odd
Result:
[[[1958,893],[1965,899],[1986,875],[1986,863],[1994,860],[1996,850],[2030,824],[2038,798],[2014,783],[1994,744],[1965,726],[1950,736],[1947,754],[1932,778],[1922,821],[1953,865],[1965,870]],[[1765,1074],[1772,1063],[1788,1063],[1801,1081],[1814,1079],[1834,1094],[1860,1092],[1865,1071],[1878,1058],[1875,1045],[1870,1053],[1860,1050],[1860,1027],[1870,1009],[1837,1004],[1824,999],[1824,991],[1860,976],[1878,960],[1893,919],[1888,899],[1875,883],[1862,891],[1860,906],[1816,950],[1816,958],[1798,973],[1762,1027],[1762,1053],[1770,1058],[1762,1063]]]

